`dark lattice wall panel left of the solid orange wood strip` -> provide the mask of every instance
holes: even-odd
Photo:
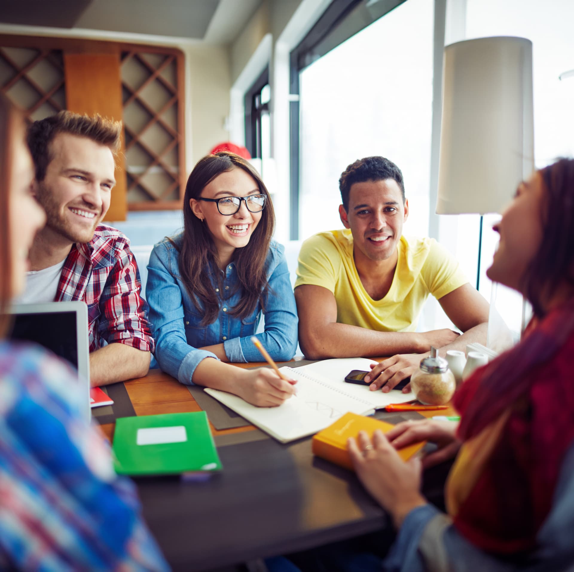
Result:
[[[65,109],[61,50],[0,47],[0,92],[33,121]]]

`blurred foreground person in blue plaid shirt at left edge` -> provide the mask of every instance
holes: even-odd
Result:
[[[3,339],[45,214],[32,194],[24,119],[0,97],[0,569],[168,570],[134,485],[80,414],[63,362]]]

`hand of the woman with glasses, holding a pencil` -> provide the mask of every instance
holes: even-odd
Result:
[[[252,371],[244,369],[246,376],[237,393],[247,402],[258,407],[277,407],[296,394],[295,384],[297,382],[279,371],[277,364],[256,337],[252,337],[251,341],[273,369],[261,368]]]

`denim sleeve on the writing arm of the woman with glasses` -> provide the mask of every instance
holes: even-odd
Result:
[[[169,252],[165,244],[154,247],[148,264],[148,297],[152,333],[156,340],[157,363],[162,371],[185,385],[192,385],[193,372],[206,357],[215,353],[187,343],[180,285],[168,269]]]

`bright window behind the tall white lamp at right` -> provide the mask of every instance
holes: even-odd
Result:
[[[466,38],[520,36],[533,44],[534,163],[536,168],[558,157],[574,155],[574,2],[570,0],[466,0]],[[560,77],[562,76],[562,79]],[[492,262],[498,235],[484,217],[480,256],[480,292],[491,299],[486,270]],[[455,254],[470,278],[478,266],[479,217],[459,217]],[[498,286],[496,306],[516,334],[522,322],[522,300]],[[493,298],[494,299],[494,298]]]

